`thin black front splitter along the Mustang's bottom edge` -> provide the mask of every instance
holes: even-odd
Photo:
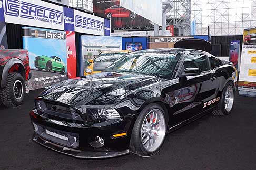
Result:
[[[122,156],[129,154],[129,150],[124,150],[121,152],[116,151],[107,151],[107,152],[94,152],[94,151],[81,151],[75,150],[73,148],[61,146],[50,141],[47,141],[40,137],[39,135],[35,134],[33,136],[33,141],[39,143],[40,145],[50,148],[53,151],[60,152],[62,154],[70,155],[75,158],[86,158],[86,159],[99,159],[99,158],[112,158],[117,156]]]

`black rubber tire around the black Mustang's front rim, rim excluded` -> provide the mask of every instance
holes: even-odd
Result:
[[[155,110],[155,109],[160,110],[163,113],[166,133],[164,134],[162,142],[159,143],[160,144],[159,147],[157,147],[154,151],[149,152],[149,151],[145,150],[145,148],[143,146],[142,139],[141,139],[141,134],[142,134],[141,131],[142,131],[143,122],[144,122],[147,114],[150,113],[150,111]],[[164,142],[167,132],[168,132],[168,114],[165,113],[164,109],[159,104],[151,103],[151,104],[147,105],[141,111],[141,113],[137,117],[135,124],[133,126],[131,140],[130,140],[130,146],[129,146],[130,152],[134,153],[136,155],[142,156],[142,157],[149,157],[149,156],[156,154],[157,152],[159,152],[159,150]]]

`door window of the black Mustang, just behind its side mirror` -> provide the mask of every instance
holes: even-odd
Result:
[[[192,54],[185,58],[184,68],[199,68],[201,71],[210,70],[208,57],[202,54]]]

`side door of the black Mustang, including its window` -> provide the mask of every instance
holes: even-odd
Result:
[[[199,68],[201,69],[201,74],[181,77],[186,68]],[[211,70],[208,56],[203,52],[186,55],[179,75],[181,94],[178,96],[178,100],[182,104],[183,110],[174,115],[175,122],[190,119],[211,108],[212,102],[209,105],[208,102],[216,98],[216,88],[218,86],[215,73]],[[214,102],[216,102],[216,99]]]

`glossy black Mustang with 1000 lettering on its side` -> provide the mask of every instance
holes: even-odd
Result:
[[[189,49],[127,54],[104,72],[43,91],[31,111],[33,140],[77,158],[157,153],[168,132],[233,108],[232,63]]]

